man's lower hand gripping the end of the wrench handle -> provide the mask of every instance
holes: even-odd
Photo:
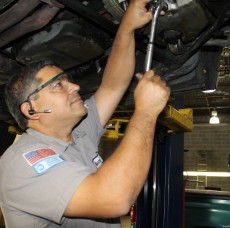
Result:
[[[158,116],[168,101],[169,87],[152,70],[144,75],[137,74],[137,77],[139,83],[134,92],[135,112],[146,113],[152,117]]]

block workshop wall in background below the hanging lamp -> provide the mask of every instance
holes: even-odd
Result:
[[[185,133],[184,170],[230,172],[230,125],[197,124]],[[230,191],[230,177],[185,177],[186,188]],[[198,180],[200,183],[196,182]]]

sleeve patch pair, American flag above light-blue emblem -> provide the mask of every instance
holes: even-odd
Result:
[[[49,148],[26,152],[23,154],[23,157],[38,174],[64,161],[58,153]]]

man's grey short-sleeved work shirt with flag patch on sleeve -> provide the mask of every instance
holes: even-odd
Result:
[[[102,164],[98,143],[104,129],[94,98],[86,103],[88,115],[74,129],[73,142],[28,129],[0,159],[0,205],[7,228],[120,227],[119,219],[63,217],[78,186]]]

